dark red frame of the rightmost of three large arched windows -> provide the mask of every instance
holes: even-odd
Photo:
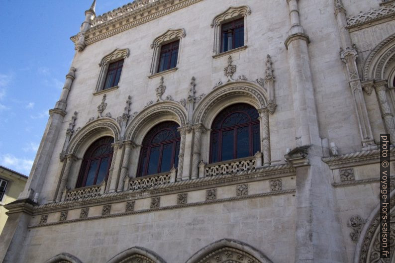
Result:
[[[232,114],[235,113],[242,113],[249,117],[248,122],[244,122],[241,124],[229,126],[229,127],[222,127],[224,121],[230,117]],[[257,151],[260,151],[260,129],[259,129],[259,113],[258,111],[249,104],[245,103],[237,103],[230,105],[223,109],[218,115],[215,117],[212,125],[211,125],[211,135],[210,135],[210,158],[209,163],[217,163],[222,161],[228,161],[237,158],[237,130],[240,128],[248,127],[248,152],[249,156],[253,156],[254,153],[254,143],[255,148]],[[254,141],[254,126],[258,128],[258,141]],[[232,158],[222,160],[222,138],[223,133],[227,131],[233,131],[233,153]],[[214,159],[213,154],[213,139],[214,136],[217,135],[217,151],[216,157]],[[214,161],[213,161],[214,160]]]

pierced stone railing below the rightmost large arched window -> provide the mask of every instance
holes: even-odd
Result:
[[[246,172],[262,166],[262,161],[260,161],[262,159],[259,158],[262,158],[261,154],[255,157],[247,157],[243,159],[214,163],[209,165],[204,165],[204,163],[201,162],[199,165],[199,177],[229,175],[238,172]],[[201,174],[203,173],[204,175],[202,176]]]

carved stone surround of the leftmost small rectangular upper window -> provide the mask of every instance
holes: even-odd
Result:
[[[99,63],[99,67],[101,69],[100,69],[99,79],[98,79],[98,83],[96,84],[96,89],[95,89],[94,95],[99,95],[103,92],[107,92],[107,91],[114,90],[114,89],[118,88],[118,86],[115,86],[115,87],[103,89],[105,76],[107,75],[108,65],[113,62],[116,62],[118,60],[125,59],[127,57],[129,57],[129,49],[128,48],[125,48],[125,49],[116,48],[114,51],[107,54],[106,56],[104,56],[101,59],[101,61]],[[123,63],[123,67],[124,66],[125,66],[125,62]],[[122,78],[122,73],[123,73],[123,69],[121,72],[121,76],[119,78],[119,82],[121,82],[120,80]]]

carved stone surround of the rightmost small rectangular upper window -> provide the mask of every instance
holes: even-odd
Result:
[[[248,5],[230,6],[224,12],[218,14],[212,19],[211,27],[214,28],[214,41],[213,41],[213,58],[221,57],[239,50],[247,48],[248,42],[248,24],[247,15],[251,14],[251,9]],[[221,25],[232,20],[244,17],[244,45],[235,49],[231,49],[221,53]]]

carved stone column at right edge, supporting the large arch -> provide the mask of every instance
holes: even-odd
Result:
[[[390,134],[391,144],[395,143],[395,122],[394,114],[391,112],[390,103],[387,96],[387,80],[376,82],[375,90],[379,99],[382,117],[386,125],[387,132]]]

